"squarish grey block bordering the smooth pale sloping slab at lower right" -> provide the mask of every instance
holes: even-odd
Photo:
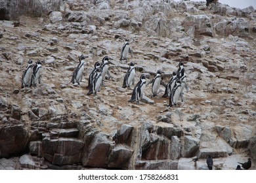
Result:
[[[184,136],[184,144],[182,146],[182,157],[190,158],[196,155],[199,150],[200,140],[191,136]]]

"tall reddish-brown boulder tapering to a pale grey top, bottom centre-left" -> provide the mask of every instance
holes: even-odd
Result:
[[[93,137],[91,143],[83,154],[83,166],[108,167],[108,154],[114,144],[103,133],[98,133]]]

